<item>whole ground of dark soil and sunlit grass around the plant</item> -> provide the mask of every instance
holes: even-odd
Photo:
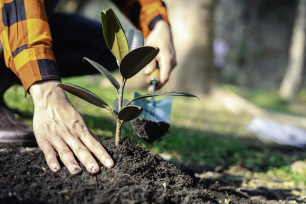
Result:
[[[112,87],[100,87],[97,85],[100,82],[95,81],[99,81],[96,76],[88,76],[87,80],[69,78],[63,82],[81,85],[111,104],[115,91]],[[136,91],[146,93],[145,90]],[[127,89],[124,92],[128,99],[132,97],[134,90]],[[305,109],[306,99],[303,97],[299,97],[291,107],[275,99],[274,90],[254,92],[239,89],[234,92],[242,93],[248,100],[257,102],[268,113],[283,111],[291,116],[304,118],[302,110]],[[33,105],[30,96],[20,103],[23,96],[22,87],[14,86],[5,93],[5,100],[11,107],[19,109],[23,116],[18,117],[31,126]],[[97,175],[90,175],[84,170],[81,175],[71,176],[65,167],[59,173],[53,173],[48,169],[39,148],[1,146],[1,202],[18,202],[22,198],[28,203],[36,200],[73,203],[73,199],[76,199],[74,197],[77,197],[84,203],[97,203],[104,199],[105,202],[137,203],[138,200],[139,203],[145,203],[144,196],[148,203],[169,200],[174,203],[192,203],[192,199],[199,199],[198,197],[201,197],[198,203],[306,202],[305,149],[261,141],[247,132],[245,125],[254,116],[245,111],[249,106],[229,110],[221,105],[218,98],[199,96],[198,101],[195,98],[173,97],[169,132],[161,141],[146,143],[137,136],[129,123],[123,124],[122,135],[130,138],[133,143],[129,145],[133,148],[130,151],[128,148],[111,148],[115,121],[107,111],[74,96],[69,97],[91,130],[105,139],[104,146],[115,159],[115,167],[103,168]],[[227,102],[232,104],[230,100]],[[128,155],[127,152],[135,149],[142,153],[139,153],[142,155],[141,159]],[[160,156],[163,160],[160,160]],[[127,163],[123,162],[125,157]],[[131,160],[142,162],[140,166],[145,167],[135,170],[137,165],[131,165]],[[153,179],[148,179],[151,175],[147,172],[140,173],[141,169],[146,169],[147,172],[153,169],[159,173]],[[53,180],[46,181],[49,178]],[[130,192],[129,187],[124,186],[135,188]],[[105,197],[104,192],[114,194]],[[144,194],[141,195],[141,192]],[[48,193],[52,193],[54,197],[51,199],[47,196]],[[136,194],[137,197],[132,197]],[[156,195],[160,195],[160,199],[157,200]],[[127,198],[118,201],[120,196]],[[153,199],[155,200],[152,201]]]

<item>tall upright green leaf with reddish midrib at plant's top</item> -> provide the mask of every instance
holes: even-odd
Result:
[[[123,28],[111,8],[101,10],[101,20],[105,42],[111,53],[119,61],[128,53],[128,44]]]

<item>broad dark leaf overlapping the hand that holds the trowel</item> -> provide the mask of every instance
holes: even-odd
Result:
[[[120,62],[120,73],[127,79],[138,73],[158,54],[157,47],[142,46],[128,52]]]

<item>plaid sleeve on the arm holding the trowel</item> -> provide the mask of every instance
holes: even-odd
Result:
[[[142,31],[144,37],[158,20],[169,23],[165,4],[161,0],[113,0],[122,12]]]

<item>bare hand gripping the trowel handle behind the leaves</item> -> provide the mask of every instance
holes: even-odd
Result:
[[[156,22],[154,28],[145,39],[145,45],[159,48],[159,53],[146,67],[144,75],[146,82],[150,82],[149,74],[156,68],[156,61],[159,65],[159,83],[156,89],[161,88],[169,79],[171,70],[176,66],[175,51],[172,43],[172,36],[169,24],[164,20]],[[152,86],[148,91],[151,92]]]

